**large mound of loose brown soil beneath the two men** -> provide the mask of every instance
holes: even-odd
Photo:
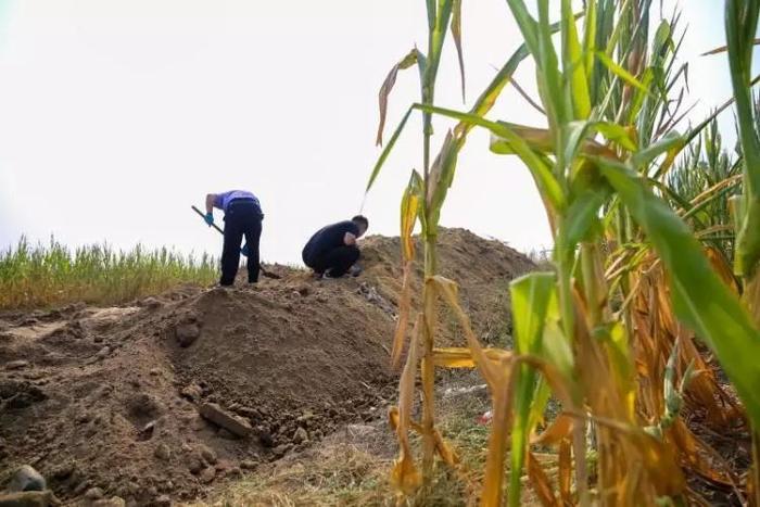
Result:
[[[481,335],[508,334],[507,282],[532,263],[459,229],[439,251]],[[28,464],[64,500],[162,505],[383,416],[398,240],[367,238],[363,258],[357,278],[271,266],[281,279],[258,287],[0,315],[0,473]]]

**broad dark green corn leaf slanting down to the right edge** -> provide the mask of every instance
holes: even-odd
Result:
[[[755,427],[760,426],[760,332],[713,271],[684,221],[632,167],[591,159],[647,235],[664,265],[677,317],[715,353]]]

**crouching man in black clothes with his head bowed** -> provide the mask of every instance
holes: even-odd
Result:
[[[319,229],[304,246],[302,257],[315,276],[340,278],[359,258],[356,240],[369,227],[366,217],[357,215],[351,220],[339,221]]]

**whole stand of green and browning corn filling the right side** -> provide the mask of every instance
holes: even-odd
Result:
[[[465,489],[470,502],[520,505],[527,480],[547,506],[706,505],[693,487],[698,477],[735,502],[760,505],[760,137],[751,94],[758,79],[750,75],[760,1],[725,1],[727,46],[704,58],[729,59],[734,96],[696,125],[685,119],[695,98],[687,62],[679,59],[685,28],[677,11],[660,14],[648,0],[586,0],[578,10],[571,0],[530,3],[507,0],[522,45],[469,110],[434,102],[449,31],[464,90],[457,0],[427,0],[427,51],[404,56],[380,90],[378,142],[398,72],[419,68],[419,102],[367,187],[407,119],[421,113],[422,166],[401,203],[407,274],[392,360],[404,366],[390,413],[398,502],[429,503],[438,470],[461,473],[466,466],[468,451],[447,442],[438,423],[433,386],[443,367],[476,368],[491,394],[487,453],[482,479]],[[490,118],[528,59],[544,125],[519,125],[517,113]],[[737,122],[735,155],[723,149],[714,122],[729,107]],[[457,122],[434,157],[433,117]],[[518,157],[531,173],[555,241],[549,269],[511,283],[514,350],[481,345],[456,281],[436,270],[440,212],[473,128],[490,131],[491,152]],[[408,276],[417,226],[422,287]],[[419,308],[409,303],[414,290],[422,292]],[[461,325],[460,347],[436,346],[441,304]],[[553,417],[550,400],[561,407]],[[749,473],[729,466],[695,431],[695,419],[713,433],[751,435],[744,443],[753,459]]]

